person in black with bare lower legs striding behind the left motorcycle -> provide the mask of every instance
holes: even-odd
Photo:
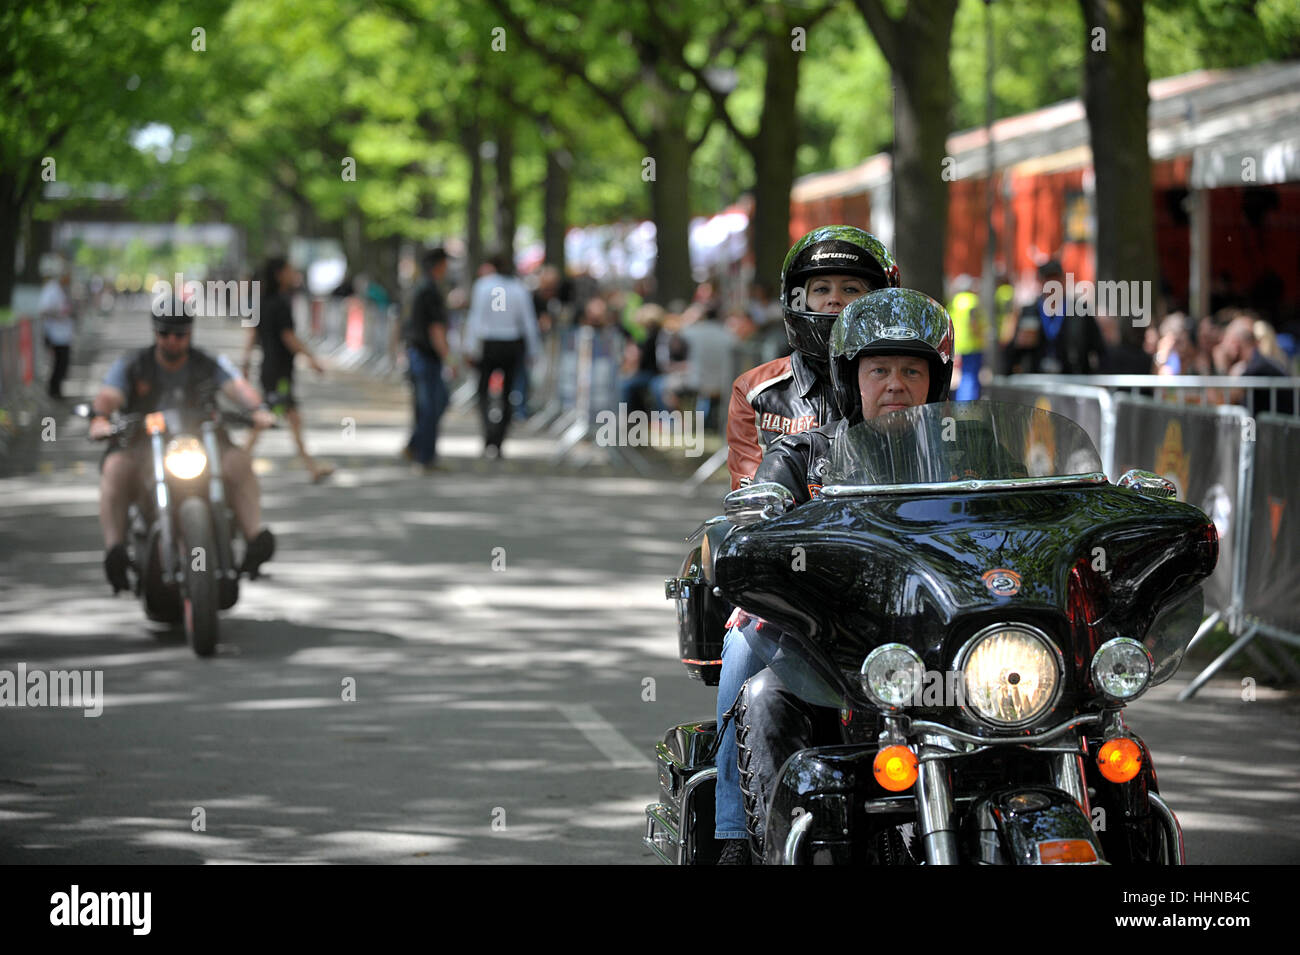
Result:
[[[306,355],[307,363],[317,374],[324,374],[325,366],[294,331],[291,296],[296,286],[298,270],[289,264],[287,259],[272,256],[266,260],[261,272],[261,305],[257,324],[248,329],[240,364],[244,376],[247,376],[254,344],[261,348],[260,381],[266,405],[276,414],[283,414],[285,420],[289,421],[298,453],[302,455],[307,470],[312,476],[312,482],[316,483],[333,474],[334,468],[307,453],[307,446],[303,443],[303,417],[298,409],[298,400],[294,398],[294,357]],[[260,434],[261,429],[254,429],[248,437],[248,447],[246,448],[248,453],[252,453],[252,447]]]

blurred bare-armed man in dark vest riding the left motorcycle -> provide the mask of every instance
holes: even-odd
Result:
[[[124,355],[109,368],[95,396],[90,437],[109,438],[113,426],[108,416],[116,411],[146,414],[181,409],[203,412],[212,407],[216,392],[252,411],[254,424],[269,427],[274,416],[261,404],[261,396],[225,356],[212,357],[190,347],[194,318],[187,314],[155,317],[153,344]],[[254,572],[270,559],[276,539],[261,528],[261,500],[257,478],[248,452],[235,448],[224,431],[221,473],[226,495],[239,529],[248,542],[244,570]],[[126,512],[140,489],[152,479],[148,444],[140,429],[130,443],[114,438],[100,463],[99,524],[104,533],[104,573],[113,592],[127,590]]]

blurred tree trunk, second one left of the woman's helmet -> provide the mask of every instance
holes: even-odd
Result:
[[[650,134],[650,208],[655,225],[655,301],[690,301],[690,142],[680,122],[670,121]],[[642,175],[647,175],[642,165]]]

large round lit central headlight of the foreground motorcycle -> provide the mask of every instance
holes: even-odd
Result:
[[[966,708],[994,726],[1022,726],[1061,695],[1065,657],[1037,628],[994,624],[980,630],[957,654],[966,687]]]

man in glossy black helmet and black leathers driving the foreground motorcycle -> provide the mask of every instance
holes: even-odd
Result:
[[[948,398],[953,337],[944,307],[910,288],[887,288],[848,305],[835,322],[829,346],[831,390],[842,418],[774,446],[754,481],[775,481],[797,503],[810,500],[822,487],[837,435],[863,420]],[[744,612],[740,617],[742,634],[774,626]],[[833,730],[835,721],[836,711],[803,703],[771,669],[748,682],[737,715],[740,777],[754,807],[755,835],[762,838],[781,764],[820,733]]]

